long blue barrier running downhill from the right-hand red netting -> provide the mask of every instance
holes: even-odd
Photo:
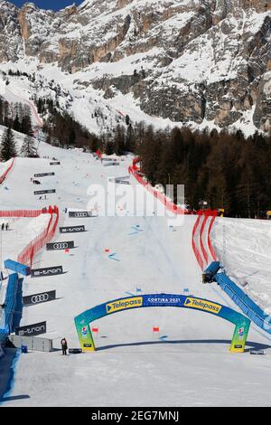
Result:
[[[236,283],[229,279],[225,273],[217,273],[214,280],[220,285],[233,302],[250,318],[257,326],[271,334],[271,316],[257,306]]]

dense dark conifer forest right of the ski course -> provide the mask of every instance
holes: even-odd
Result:
[[[164,188],[184,184],[191,210],[203,202],[232,217],[263,218],[271,210],[271,137],[147,127],[136,139],[147,179]]]

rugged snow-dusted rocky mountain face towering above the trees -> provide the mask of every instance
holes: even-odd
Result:
[[[57,63],[149,116],[270,130],[270,0],[89,0],[57,13],[4,1],[0,33],[0,62]]]

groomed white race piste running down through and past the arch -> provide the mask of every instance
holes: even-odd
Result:
[[[181,225],[169,225],[169,217],[157,214],[159,200],[154,203],[153,194],[133,175],[129,187],[139,194],[141,216],[135,215],[129,202],[117,199],[118,215],[104,216],[101,200],[92,216],[80,217],[98,185],[104,188],[107,203],[115,204],[108,178],[127,176],[131,156],[119,160],[118,166],[105,166],[89,154],[44,143],[39,155],[40,159],[16,158],[12,172],[0,185],[0,210],[57,205],[59,226],[84,225],[85,231],[62,234],[57,229],[53,241],[74,241],[74,248],[43,248],[34,256],[34,269],[62,266],[62,274],[23,279],[23,296],[56,290],[55,300],[23,307],[20,322],[25,326],[46,321],[42,336],[53,340],[54,351],[18,353],[0,360],[2,406],[270,404],[270,335],[251,323],[246,352],[229,353],[232,324],[199,309],[126,309],[91,323],[94,353],[61,355],[63,336],[69,348],[79,347],[74,318],[108,300],[179,294],[241,311],[219,287],[202,285],[192,247],[197,216],[184,215]],[[61,164],[50,165],[52,158]],[[40,178],[40,186],[31,182],[34,174],[51,171],[55,175]],[[117,184],[117,191],[126,186]],[[36,189],[55,189],[56,193],[47,194],[45,200],[33,194]],[[70,217],[70,212],[77,216]],[[31,228],[30,219],[11,223],[3,259],[16,260],[22,238],[25,245],[29,242],[23,232],[26,221]],[[264,349],[266,355],[250,355],[249,349]],[[11,364],[13,373],[7,375],[3,365]]]

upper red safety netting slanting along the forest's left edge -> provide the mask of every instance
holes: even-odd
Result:
[[[164,194],[161,194],[159,191],[155,190],[154,187],[146,182],[142,175],[140,174],[140,169],[138,167],[139,158],[133,160],[133,165],[130,165],[128,168],[129,174],[134,175],[138,183],[142,184],[145,189],[154,195],[155,198],[159,199],[161,203],[164,203],[165,208],[174,214],[186,214],[187,211],[170,201]]]

